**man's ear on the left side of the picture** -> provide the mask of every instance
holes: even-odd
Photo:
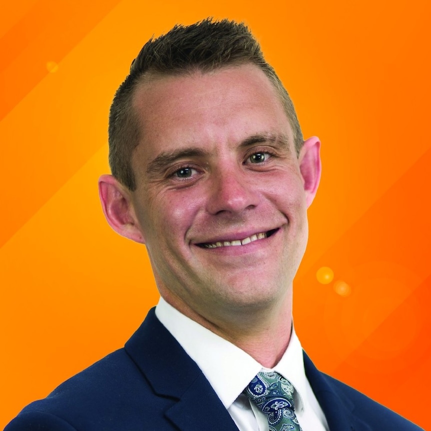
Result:
[[[144,243],[127,187],[112,175],[100,176],[98,186],[103,213],[109,226],[121,236]]]

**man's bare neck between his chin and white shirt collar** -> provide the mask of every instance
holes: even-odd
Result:
[[[274,367],[285,352],[292,327],[291,289],[272,307],[237,309],[218,315],[198,313],[179,298],[163,294],[163,299],[179,312],[235,344],[266,368]]]

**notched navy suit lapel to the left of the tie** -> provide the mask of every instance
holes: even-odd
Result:
[[[126,342],[125,350],[157,395],[177,399],[165,416],[179,429],[238,431],[200,368],[160,323],[154,308]]]

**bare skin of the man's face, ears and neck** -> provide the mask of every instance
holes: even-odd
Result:
[[[290,337],[318,139],[296,156],[279,97],[251,64],[151,77],[133,103],[142,124],[132,156],[137,188],[101,176],[107,221],[146,245],[167,302],[274,366]],[[244,245],[205,246],[262,232]]]

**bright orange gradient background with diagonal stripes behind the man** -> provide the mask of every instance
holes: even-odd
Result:
[[[249,24],[304,135],[322,140],[294,286],[304,348],[431,429],[430,3],[145,3],[1,6],[0,427],[121,347],[156,303],[145,248],[111,231],[98,202],[107,113],[153,33],[212,15]]]

